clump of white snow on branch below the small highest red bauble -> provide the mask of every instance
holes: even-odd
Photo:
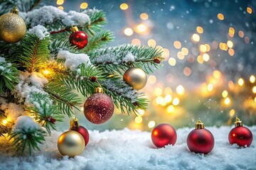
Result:
[[[90,58],[88,55],[85,54],[74,54],[69,51],[59,51],[57,55],[58,59],[65,59],[64,66],[66,69],[70,69],[72,71],[75,71],[75,69],[78,68],[78,66],[82,63],[84,64],[91,64]]]

